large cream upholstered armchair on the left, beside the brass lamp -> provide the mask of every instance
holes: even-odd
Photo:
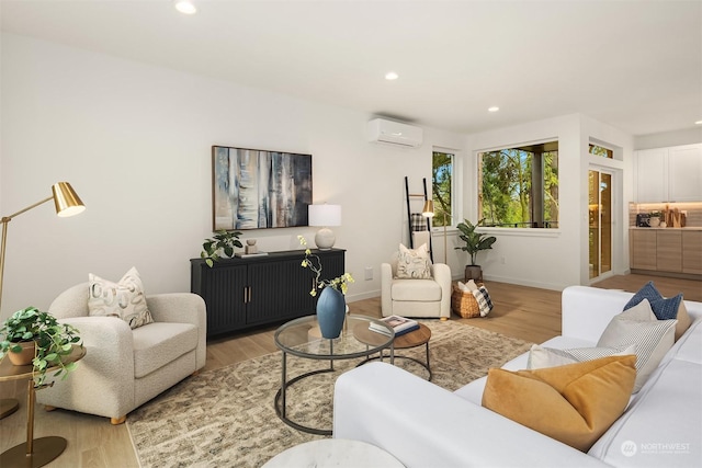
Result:
[[[146,297],[154,318],[132,330],[122,319],[88,316],[88,283],[60,294],[49,306],[59,321],[80,331],[87,354],[65,380],[36,392],[47,410],[64,408],[110,418],[126,414],[205,366],[206,311],[190,293]]]

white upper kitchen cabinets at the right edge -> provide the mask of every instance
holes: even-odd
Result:
[[[636,202],[702,202],[702,144],[635,153]]]

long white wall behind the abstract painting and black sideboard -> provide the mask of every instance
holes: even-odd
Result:
[[[380,263],[407,238],[404,176],[430,182],[432,148],[465,142],[426,129],[419,149],[372,145],[371,115],[12,34],[1,72],[0,214],[50,196],[57,181],[88,207],[60,219],[46,204],[10,222],[2,318],[48,307],[89,272],[116,281],[133,265],[147,293],[190,290],[189,259],[212,233],[213,145],[312,153],[315,202],[342,206],[349,300],[377,296]],[[244,238],[290,250],[314,232]]]

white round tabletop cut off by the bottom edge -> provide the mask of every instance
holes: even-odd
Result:
[[[263,465],[263,468],[290,467],[404,468],[404,465],[387,452],[365,442],[322,438],[291,447]]]

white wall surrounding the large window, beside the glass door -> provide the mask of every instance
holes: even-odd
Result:
[[[492,250],[480,252],[486,279],[548,289],[588,283],[588,141],[614,140],[631,159],[632,140],[609,125],[579,114],[532,122],[472,135],[464,176],[477,187],[477,152],[535,141],[558,140],[558,229],[483,229],[497,237]],[[631,164],[631,162],[627,162]],[[623,165],[624,162],[618,163]],[[622,184],[621,190],[627,189]],[[477,220],[477,190],[466,190],[465,213]],[[630,198],[631,199],[631,196]],[[627,249],[626,249],[627,250]],[[465,255],[466,262],[468,261]]]

